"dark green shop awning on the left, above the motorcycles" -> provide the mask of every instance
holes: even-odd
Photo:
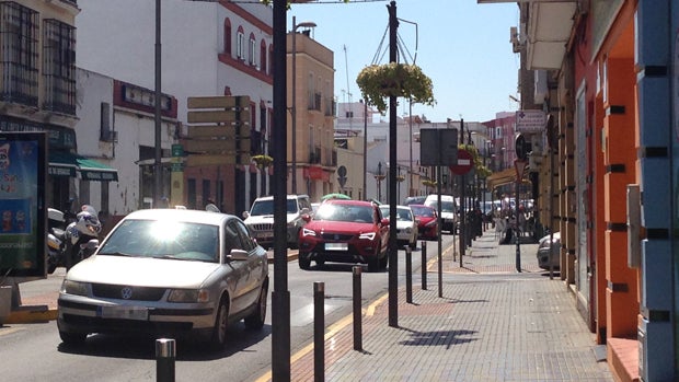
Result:
[[[67,151],[49,152],[49,175],[76,176],[83,181],[118,181],[118,171],[93,159]]]

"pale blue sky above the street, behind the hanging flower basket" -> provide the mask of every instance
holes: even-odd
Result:
[[[434,83],[434,106],[413,104],[413,115],[434,123],[447,118],[486,121],[514,112],[519,99],[519,55],[513,53],[509,27],[518,26],[516,3],[477,4],[476,0],[396,0],[402,62],[419,66]],[[292,3],[297,23],[314,22],[311,34],[334,53],[337,102],[358,102],[356,77],[371,63],[389,62],[390,0],[314,0]],[[303,30],[299,28],[298,31]],[[511,96],[511,97],[510,97]],[[399,99],[398,115],[408,114]]]

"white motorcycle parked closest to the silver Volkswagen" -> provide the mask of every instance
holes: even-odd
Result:
[[[90,257],[99,246],[102,223],[94,207],[83,205],[76,220],[66,228],[64,251],[66,269]]]

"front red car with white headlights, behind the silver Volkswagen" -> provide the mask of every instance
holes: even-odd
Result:
[[[371,201],[329,199],[299,232],[299,267],[311,261],[368,264],[369,271],[387,268],[389,219]]]

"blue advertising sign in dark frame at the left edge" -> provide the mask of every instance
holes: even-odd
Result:
[[[45,132],[0,134],[0,275],[45,276]]]

